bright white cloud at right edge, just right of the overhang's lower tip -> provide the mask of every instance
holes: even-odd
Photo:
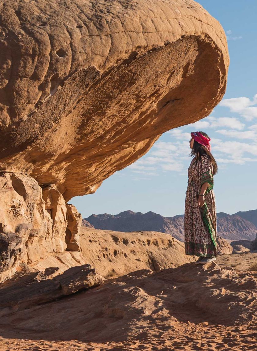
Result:
[[[252,107],[257,104],[257,94],[250,100],[246,97],[224,99],[220,101],[220,106],[229,107],[231,112],[236,112],[246,120],[250,121],[253,117],[257,117],[257,107]]]

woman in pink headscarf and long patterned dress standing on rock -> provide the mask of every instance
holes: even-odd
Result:
[[[185,200],[185,253],[199,256],[198,263],[217,257],[216,204],[213,175],[218,167],[211,154],[210,138],[202,131],[192,132],[191,156]]]

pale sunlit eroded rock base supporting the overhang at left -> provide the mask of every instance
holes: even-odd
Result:
[[[73,249],[79,249],[81,218],[67,216],[70,206],[56,186],[41,188],[25,174],[0,173],[0,203],[0,281],[11,277],[21,263],[70,250],[72,240]]]

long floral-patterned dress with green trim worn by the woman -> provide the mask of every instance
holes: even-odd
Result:
[[[217,256],[216,204],[213,188],[213,168],[207,155],[197,164],[195,157],[188,168],[188,185],[185,200],[185,253],[204,257]],[[202,184],[209,183],[205,204],[198,206]]]

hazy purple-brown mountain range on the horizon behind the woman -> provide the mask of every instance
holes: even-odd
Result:
[[[247,211],[255,212],[257,210]],[[247,212],[242,212],[247,217]],[[239,212],[238,212],[239,213]],[[252,221],[240,217],[237,214],[228,214],[224,212],[217,213],[217,234],[229,240],[253,240],[256,237],[257,227]],[[250,217],[251,216],[251,217]],[[251,213],[249,218],[254,219]],[[178,214],[174,217],[163,217],[154,212],[133,212],[124,211],[119,214],[92,214],[88,218],[83,219],[83,224],[93,225],[95,229],[106,229],[119,232],[133,231],[156,231],[172,236],[180,241],[184,241],[184,215]]]

